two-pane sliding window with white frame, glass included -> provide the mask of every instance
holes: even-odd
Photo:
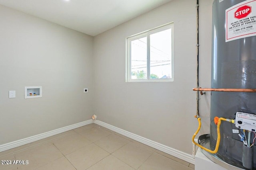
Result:
[[[126,39],[126,82],[173,81],[173,23]]]

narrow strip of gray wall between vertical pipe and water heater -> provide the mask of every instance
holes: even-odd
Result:
[[[212,66],[212,3],[214,0],[199,0],[199,85],[211,88]],[[199,113],[202,126],[199,134],[210,133],[211,93],[200,96]]]

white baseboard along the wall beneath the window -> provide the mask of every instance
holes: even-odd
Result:
[[[185,160],[185,161],[187,161],[187,162],[189,162],[189,163],[191,163],[191,164],[195,164],[195,160],[194,160],[194,158],[192,157],[192,155],[190,155],[190,154],[187,154],[187,153],[182,152],[182,151],[177,150],[177,149],[173,149],[173,148],[168,147],[168,146],[166,146],[166,145],[162,145],[162,144],[157,143],[157,142],[155,142],[155,141],[151,141],[150,139],[146,139],[146,138],[144,138],[144,137],[141,137],[141,136],[136,135],[136,134],[134,134],[134,133],[130,133],[130,132],[125,131],[125,130],[123,130],[123,129],[120,129],[120,128],[118,128],[118,127],[114,127],[114,126],[112,126],[112,125],[109,125],[109,124],[104,123],[104,122],[99,121],[99,120],[94,120],[93,122],[94,122],[95,124],[97,124],[97,125],[102,126],[102,127],[106,127],[107,129],[110,129],[110,130],[112,130],[112,131],[114,131],[114,132],[116,132],[116,133],[119,133],[119,134],[121,134],[121,135],[124,135],[124,136],[126,136],[126,137],[129,137],[129,138],[131,138],[131,139],[134,139],[135,141],[138,141],[138,142],[140,142],[140,143],[143,143],[143,144],[145,144],[145,145],[148,145],[148,146],[150,146],[150,147],[152,147],[152,148],[161,150],[162,152],[165,152],[165,153],[167,153],[167,154],[170,154],[170,155],[172,155],[172,156],[175,156],[175,157],[177,157],[177,158],[180,158],[180,159],[182,159],[182,160]]]

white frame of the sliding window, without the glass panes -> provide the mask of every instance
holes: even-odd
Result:
[[[161,25],[159,27],[144,31],[142,33],[138,33],[136,35],[132,35],[126,38],[126,82],[173,82],[174,81],[174,29],[173,22]],[[147,78],[146,79],[132,79],[131,78],[131,41],[140,39],[142,37],[147,37],[147,47],[150,43],[150,34],[154,34],[160,31],[164,31],[166,29],[171,28],[171,36],[172,36],[172,53],[171,53],[171,78],[156,78],[150,79],[150,48],[147,48]]]

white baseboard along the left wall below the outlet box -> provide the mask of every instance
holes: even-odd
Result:
[[[59,133],[63,133],[63,132],[66,132],[66,131],[69,131],[69,130],[72,130],[72,129],[76,129],[78,127],[88,125],[88,124],[91,124],[91,123],[93,123],[92,120],[87,120],[87,121],[83,121],[83,122],[80,122],[80,123],[76,123],[74,125],[69,125],[69,126],[66,126],[66,127],[62,127],[60,129],[49,131],[49,132],[46,132],[46,133],[41,133],[39,135],[34,135],[32,137],[28,137],[28,138],[25,138],[25,139],[20,139],[18,141],[13,141],[13,142],[10,142],[10,143],[6,143],[4,145],[0,145],[0,152],[8,150],[8,149],[15,148],[15,147],[19,147],[21,145],[25,145],[25,144],[28,144],[28,143],[31,143],[31,142],[34,142],[34,141],[38,141],[38,140],[44,139],[46,137],[57,135]]]

